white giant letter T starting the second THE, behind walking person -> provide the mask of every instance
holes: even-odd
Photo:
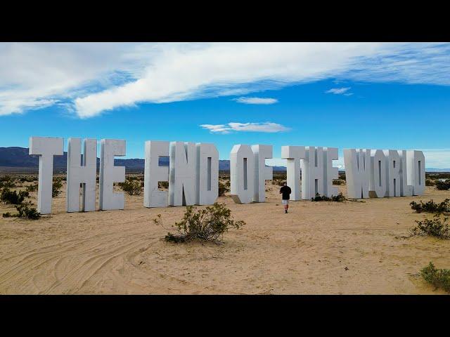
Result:
[[[281,158],[286,159],[287,183],[290,187],[291,200],[300,200],[300,160],[306,157],[304,146],[282,146]]]

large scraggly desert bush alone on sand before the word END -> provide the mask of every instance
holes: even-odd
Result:
[[[158,214],[158,218],[153,219],[153,222],[164,227],[161,214]],[[216,202],[205,209],[187,206],[183,219],[172,225],[175,227],[176,233],[168,232],[165,241],[178,243],[200,239],[219,242],[230,228],[239,229],[243,225],[245,225],[244,221],[235,221],[231,218],[231,210],[227,209],[225,204]]]

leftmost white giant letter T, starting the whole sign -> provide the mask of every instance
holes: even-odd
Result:
[[[51,190],[53,185],[53,156],[62,156],[63,138],[30,137],[30,154],[39,155],[39,183],[37,190],[37,211],[51,213]]]

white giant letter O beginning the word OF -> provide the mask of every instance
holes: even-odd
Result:
[[[255,157],[249,145],[234,145],[230,153],[231,198],[248,204],[255,192]]]

